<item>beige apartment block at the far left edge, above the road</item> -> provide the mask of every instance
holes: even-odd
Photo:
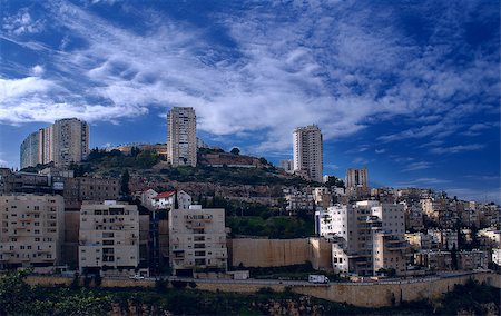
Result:
[[[0,196],[0,266],[49,267],[61,261],[65,203],[52,195]]]

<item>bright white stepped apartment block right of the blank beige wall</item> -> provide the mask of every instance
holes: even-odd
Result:
[[[376,275],[405,270],[403,205],[365,200],[315,213],[315,230],[333,241],[334,271]]]

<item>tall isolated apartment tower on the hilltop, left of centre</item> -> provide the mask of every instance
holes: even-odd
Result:
[[[197,166],[197,117],[193,108],[167,113],[167,159],[173,167]]]

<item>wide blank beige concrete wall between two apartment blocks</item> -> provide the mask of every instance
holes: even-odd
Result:
[[[229,240],[230,264],[244,267],[281,267],[302,265],[310,260],[307,238],[302,239],[253,239]]]

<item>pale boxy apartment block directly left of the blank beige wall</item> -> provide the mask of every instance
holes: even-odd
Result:
[[[225,210],[191,206],[169,211],[169,257],[173,274],[226,271]]]

